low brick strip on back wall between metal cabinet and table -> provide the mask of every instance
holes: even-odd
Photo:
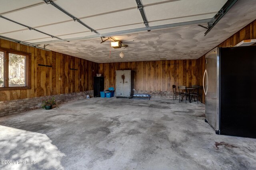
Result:
[[[173,92],[161,92],[161,91],[136,91],[137,94],[150,94],[151,98],[161,98],[161,99],[173,99]],[[177,99],[179,96],[177,95]]]

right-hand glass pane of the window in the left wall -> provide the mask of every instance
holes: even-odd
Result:
[[[9,87],[25,86],[25,58],[9,53]]]

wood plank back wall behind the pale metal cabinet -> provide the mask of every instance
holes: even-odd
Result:
[[[172,92],[173,84],[198,84],[198,60],[100,63],[99,73],[105,77],[104,89],[116,87],[116,70],[133,70],[137,91]]]

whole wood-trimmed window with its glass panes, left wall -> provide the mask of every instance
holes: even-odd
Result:
[[[30,55],[0,48],[0,90],[30,88]]]

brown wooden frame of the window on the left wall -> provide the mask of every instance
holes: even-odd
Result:
[[[0,51],[4,53],[4,87],[1,90],[22,90],[31,89],[31,54],[13,49],[5,49],[0,47]],[[25,86],[9,87],[9,53],[25,56]]]

